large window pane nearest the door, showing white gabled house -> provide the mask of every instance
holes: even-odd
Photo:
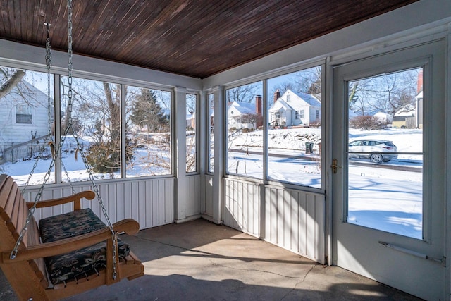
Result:
[[[321,73],[318,66],[267,80],[266,180],[321,188]]]

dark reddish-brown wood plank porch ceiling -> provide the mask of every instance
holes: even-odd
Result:
[[[73,0],[75,54],[206,78],[417,0]],[[0,38],[67,49],[66,0],[0,0]]]

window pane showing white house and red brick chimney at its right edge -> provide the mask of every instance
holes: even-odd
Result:
[[[227,173],[263,178],[263,83],[226,90]]]

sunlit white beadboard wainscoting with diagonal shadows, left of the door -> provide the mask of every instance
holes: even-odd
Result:
[[[324,195],[242,179],[224,182],[224,224],[325,263]]]

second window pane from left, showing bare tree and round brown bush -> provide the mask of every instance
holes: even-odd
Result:
[[[68,171],[70,181],[89,180],[83,161],[78,160],[78,152],[82,150],[94,178],[121,178],[121,86],[83,78],[73,78],[72,82],[72,128],[66,137],[61,137],[65,140],[61,149],[62,167]],[[61,77],[62,135],[69,123],[68,100],[68,77],[64,76]],[[126,161],[130,161],[130,153],[127,155]],[[65,177],[62,180],[68,181]]]

